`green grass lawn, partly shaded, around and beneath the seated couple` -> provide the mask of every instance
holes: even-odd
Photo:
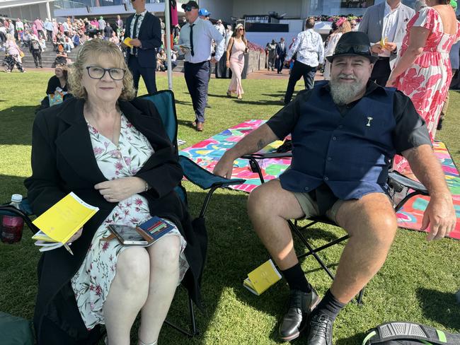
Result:
[[[26,194],[23,180],[30,175],[30,140],[34,109],[43,97],[50,74],[28,72],[1,76],[0,83],[0,202],[13,193]],[[166,77],[157,78],[159,89],[167,88]],[[246,119],[267,119],[280,110],[285,80],[244,80],[243,101],[226,98],[228,80],[213,79],[205,131],[190,127],[192,103],[182,77],[174,78],[179,137],[190,146]],[[143,84],[142,84],[143,85]],[[301,88],[298,83],[297,89]],[[145,89],[141,90],[141,94]],[[444,129],[438,138],[460,161],[458,128],[460,94],[451,93]],[[205,193],[186,182],[192,214],[197,215]],[[288,288],[284,280],[262,296],[243,288],[249,271],[267,259],[267,252],[253,233],[246,214],[247,194],[220,190],[207,213],[209,251],[202,282],[205,312],[197,311],[200,336],[188,339],[171,327],[163,327],[159,344],[277,344],[278,320]],[[25,229],[16,245],[0,243],[0,310],[31,318],[37,291],[36,264],[40,254]],[[316,245],[343,235],[343,230],[324,225],[311,230]],[[325,252],[335,269],[343,245]],[[364,305],[350,303],[334,325],[334,343],[360,344],[367,329],[392,320],[430,324],[448,332],[460,332],[460,305],[454,293],[460,288],[460,242],[451,239],[427,242],[425,234],[398,230],[386,264],[368,284]],[[323,295],[330,279],[314,259],[301,262],[306,276]],[[170,319],[186,325],[185,291],[178,289]],[[132,344],[137,339],[132,331]],[[0,341],[1,342],[1,341]],[[305,344],[305,339],[294,341]]]

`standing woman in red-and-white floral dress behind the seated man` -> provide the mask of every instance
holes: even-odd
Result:
[[[452,80],[449,52],[460,38],[460,23],[450,1],[427,0],[407,25],[407,33],[386,86],[401,90],[427,123],[432,141]],[[396,156],[394,168],[410,172],[407,160]]]

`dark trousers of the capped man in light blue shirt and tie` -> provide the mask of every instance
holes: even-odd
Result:
[[[209,61],[192,64],[185,62],[184,76],[187,83],[188,93],[192,98],[195,119],[198,122],[205,122],[205,108],[207,100],[207,86],[209,85]]]

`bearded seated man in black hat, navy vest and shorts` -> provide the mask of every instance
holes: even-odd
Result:
[[[396,153],[407,158],[430,192],[423,218],[423,228],[430,225],[427,240],[443,238],[456,221],[425,122],[403,93],[369,81],[376,57],[367,35],[345,33],[328,60],[329,82],[302,90],[294,102],[226,151],[214,168],[217,175],[230,177],[236,158],[292,134],[291,167],[280,180],[251,193],[248,213],[290,288],[280,337],[295,339],[306,327],[309,345],[332,344],[335,317],[384,264],[397,228],[385,194]],[[288,219],[318,215],[333,219],[350,235],[321,302],[301,270],[287,224]]]

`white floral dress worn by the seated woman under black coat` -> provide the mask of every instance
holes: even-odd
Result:
[[[124,115],[121,117],[118,147],[89,123],[88,130],[98,167],[108,180],[136,174],[154,153],[154,149],[146,137],[137,131]],[[103,303],[108,296],[110,283],[115,278],[117,257],[126,248],[115,239],[109,242],[100,241],[100,238],[110,235],[110,230],[106,226],[113,223],[136,226],[149,218],[151,216],[146,199],[139,194],[134,194],[132,197],[120,201],[96,230],[84,262],[71,279],[76,304],[87,329],[93,329],[96,324],[104,324]],[[165,221],[174,226],[170,221]],[[179,284],[188,269],[188,262],[183,253],[187,243],[176,226],[168,235],[180,237]]]

